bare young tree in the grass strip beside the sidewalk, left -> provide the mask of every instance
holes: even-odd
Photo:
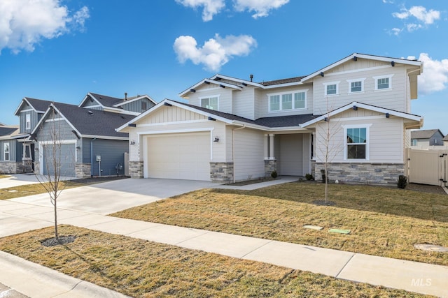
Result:
[[[50,106],[47,121],[43,121],[41,124],[40,132],[43,142],[39,149],[40,158],[45,161],[43,165],[39,167],[45,167],[42,169],[42,174],[38,172],[38,167],[35,167],[36,179],[41,186],[45,188],[45,191],[50,195],[50,202],[54,210],[55,218],[55,240],[59,243],[59,233],[57,231],[57,198],[62,193],[66,184],[62,182],[62,129],[60,126],[61,121],[57,121],[57,112],[54,107]]]

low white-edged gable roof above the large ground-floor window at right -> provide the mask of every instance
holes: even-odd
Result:
[[[360,107],[361,109],[365,110],[371,110],[375,112],[384,113],[385,117],[389,117],[390,115],[395,117],[400,117],[403,119],[409,120],[409,126],[407,126],[408,129],[411,128],[421,128],[423,126],[423,117],[416,115],[416,114],[409,114],[405,112],[399,112],[391,109],[386,109],[384,107],[378,107],[376,105],[368,105],[367,103],[358,103],[356,101],[353,101],[353,103],[349,103],[348,105],[344,105],[342,107],[339,107],[336,110],[332,110],[328,113],[325,113],[319,117],[316,117],[310,121],[305,122],[304,124],[301,124],[300,127],[305,128],[307,126],[310,126],[311,124],[315,124],[318,121],[325,121],[325,118],[335,116],[339,113],[342,113],[346,110],[355,109]]]

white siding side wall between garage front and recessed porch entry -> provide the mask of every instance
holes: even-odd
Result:
[[[265,133],[249,128],[235,133],[235,181],[265,177],[264,137]]]

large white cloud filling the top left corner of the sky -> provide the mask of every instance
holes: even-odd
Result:
[[[16,54],[21,50],[32,52],[42,39],[57,38],[71,27],[83,29],[88,17],[87,7],[72,17],[59,0],[1,0],[0,52],[3,48]]]

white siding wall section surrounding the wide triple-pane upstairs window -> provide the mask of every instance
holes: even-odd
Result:
[[[301,92],[306,91],[306,107],[304,109],[295,109],[295,110],[283,110],[283,111],[275,111],[269,112],[269,95],[275,94],[283,94],[283,93],[293,93],[293,92]],[[299,86],[293,87],[282,87],[275,89],[265,89],[257,92],[257,111],[258,113],[255,117],[263,118],[263,117],[278,117],[278,116],[289,116],[289,115],[298,115],[298,114],[312,114],[313,113],[313,85],[312,84],[303,84]]]

